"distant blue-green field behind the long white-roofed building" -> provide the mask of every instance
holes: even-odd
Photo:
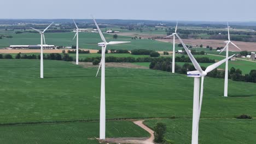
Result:
[[[0,39],[0,47],[8,47],[9,45],[38,45],[40,44],[40,34],[38,33],[10,33],[13,38]],[[67,33],[45,33],[46,44],[56,46],[72,46],[76,45],[76,40],[72,40],[74,37],[73,32]],[[107,41],[131,41],[131,43],[121,45],[109,45],[108,49],[147,49],[147,50],[161,50],[170,51],[172,45],[163,43],[157,40],[149,39],[131,39],[131,37],[118,36],[118,39],[113,39],[113,35],[104,34]],[[82,49],[101,49],[97,46],[97,43],[102,42],[98,33],[79,33],[79,48]]]

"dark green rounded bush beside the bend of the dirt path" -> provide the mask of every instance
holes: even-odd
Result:
[[[163,142],[166,133],[166,124],[158,122],[154,127],[154,142]]]

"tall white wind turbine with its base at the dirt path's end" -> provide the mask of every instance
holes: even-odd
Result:
[[[94,19],[92,17],[92,19]],[[98,67],[98,71],[101,68],[101,104],[100,104],[100,140],[104,140],[106,137],[106,105],[105,105],[105,52],[107,45],[115,45],[115,44],[123,44],[130,43],[130,41],[110,41],[107,42],[104,38],[100,27],[98,27],[97,22],[95,21],[95,25],[98,29],[98,33],[100,33],[102,43],[98,43],[98,46],[101,46],[101,62]],[[98,71],[96,76],[98,75]]]

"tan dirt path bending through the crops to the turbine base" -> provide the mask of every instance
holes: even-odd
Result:
[[[131,143],[131,144],[154,144],[154,131],[143,124],[144,120],[133,121],[136,125],[148,131],[150,137],[118,137],[106,138],[105,143]]]

